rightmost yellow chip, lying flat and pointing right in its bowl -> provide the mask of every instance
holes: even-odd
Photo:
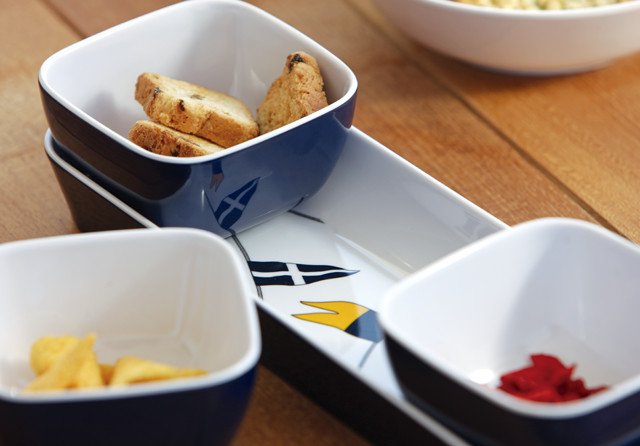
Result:
[[[165,379],[187,378],[205,375],[202,369],[173,367],[160,362],[149,361],[135,356],[123,356],[113,369],[109,385],[118,386]]]

